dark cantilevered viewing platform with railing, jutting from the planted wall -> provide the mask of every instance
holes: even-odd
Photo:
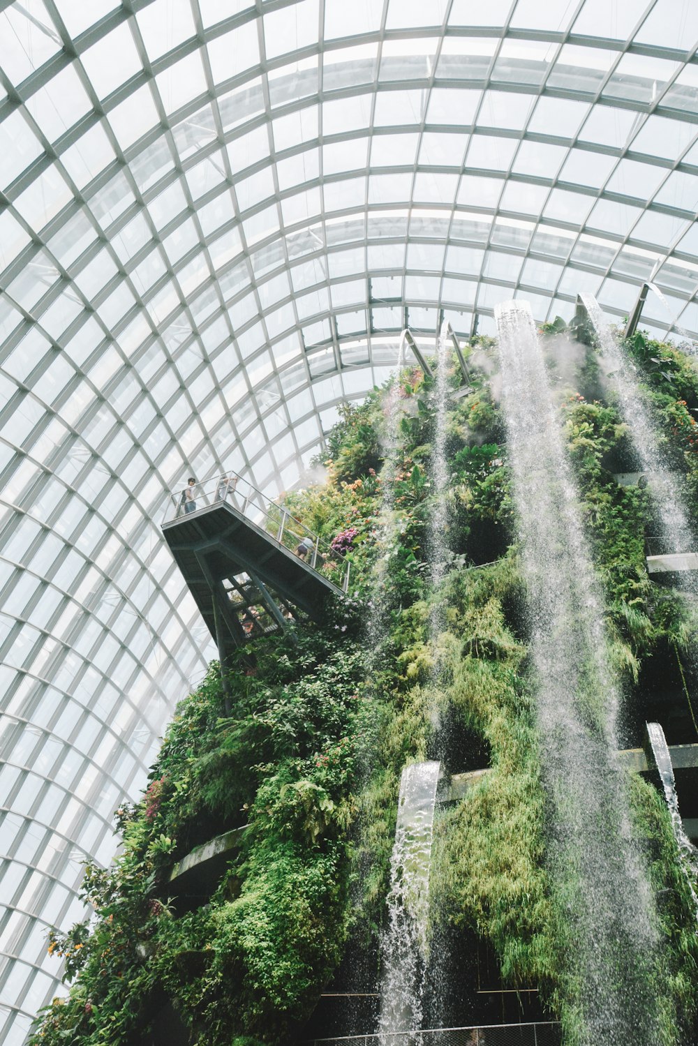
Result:
[[[286,628],[297,608],[320,621],[348,563],[234,473],[168,499],[162,532],[216,641],[221,662]]]

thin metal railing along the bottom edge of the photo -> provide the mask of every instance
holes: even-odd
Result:
[[[531,1024],[486,1024],[311,1039],[307,1046],[560,1046],[560,1040],[561,1025],[558,1021],[537,1021]]]

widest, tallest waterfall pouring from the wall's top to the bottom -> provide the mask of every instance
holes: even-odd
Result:
[[[531,310],[506,302],[495,318],[567,1001],[579,1046],[656,1046],[656,913],[617,760],[600,596]]]

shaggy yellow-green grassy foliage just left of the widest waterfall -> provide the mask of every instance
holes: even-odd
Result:
[[[504,619],[518,598],[512,558],[450,577],[449,697],[482,734],[492,770],[440,819],[432,888],[441,918],[489,938],[506,982],[553,980],[548,888],[542,858],[544,795],[531,699],[522,685],[525,647]]]

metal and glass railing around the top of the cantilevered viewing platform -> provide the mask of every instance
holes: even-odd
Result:
[[[346,556],[321,541],[288,508],[272,501],[235,472],[172,491],[162,523],[186,519],[222,502],[232,505],[277,545],[294,552],[309,567],[346,592],[351,566]]]

